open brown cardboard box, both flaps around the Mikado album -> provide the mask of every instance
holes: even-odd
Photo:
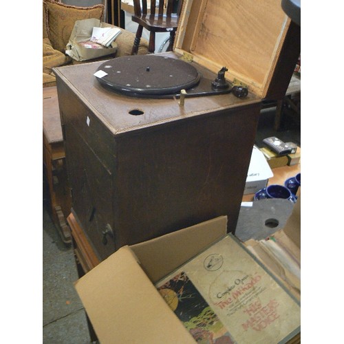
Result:
[[[100,343],[195,343],[153,283],[226,235],[227,217],[123,246],[76,281]]]

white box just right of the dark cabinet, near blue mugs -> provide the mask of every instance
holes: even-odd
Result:
[[[273,175],[264,154],[261,153],[258,147],[254,146],[250,166],[248,167],[244,195],[264,189],[269,178],[272,178]]]

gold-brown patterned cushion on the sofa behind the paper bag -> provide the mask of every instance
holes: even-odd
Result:
[[[101,20],[104,5],[92,7],[77,7],[58,3],[54,0],[44,0],[43,6],[47,17],[47,33],[54,49],[65,53],[65,46],[77,20],[96,18]]]

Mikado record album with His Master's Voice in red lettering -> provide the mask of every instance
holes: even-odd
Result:
[[[157,283],[201,343],[286,343],[300,332],[300,305],[233,235]]]

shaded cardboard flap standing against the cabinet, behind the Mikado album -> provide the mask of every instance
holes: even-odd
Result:
[[[178,268],[227,232],[227,217],[220,216],[189,228],[132,245],[142,268],[153,283]],[[161,262],[161,264],[156,264]],[[163,262],[163,263],[162,263]]]

